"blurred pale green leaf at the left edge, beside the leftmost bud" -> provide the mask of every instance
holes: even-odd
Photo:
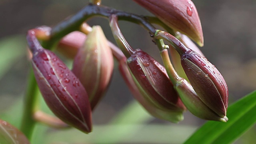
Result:
[[[0,78],[25,54],[25,36],[14,35],[0,39]]]

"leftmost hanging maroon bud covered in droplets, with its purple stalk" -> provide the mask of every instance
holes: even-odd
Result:
[[[28,32],[27,40],[35,78],[46,104],[63,122],[91,132],[90,103],[79,79],[53,52],[42,48],[34,31]]]

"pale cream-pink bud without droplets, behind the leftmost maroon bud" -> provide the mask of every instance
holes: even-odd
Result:
[[[114,58],[108,40],[100,26],[93,26],[74,59],[73,72],[86,89],[91,108],[104,95],[114,68]]]

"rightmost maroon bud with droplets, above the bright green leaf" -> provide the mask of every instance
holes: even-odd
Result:
[[[226,116],[228,88],[215,66],[189,48],[181,55],[181,65],[202,102],[219,116]]]

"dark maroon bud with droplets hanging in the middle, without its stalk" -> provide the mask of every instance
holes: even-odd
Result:
[[[146,100],[160,109],[168,109],[172,112],[186,110],[174,90],[165,68],[146,52],[136,50],[127,59],[127,66],[134,82]]]

